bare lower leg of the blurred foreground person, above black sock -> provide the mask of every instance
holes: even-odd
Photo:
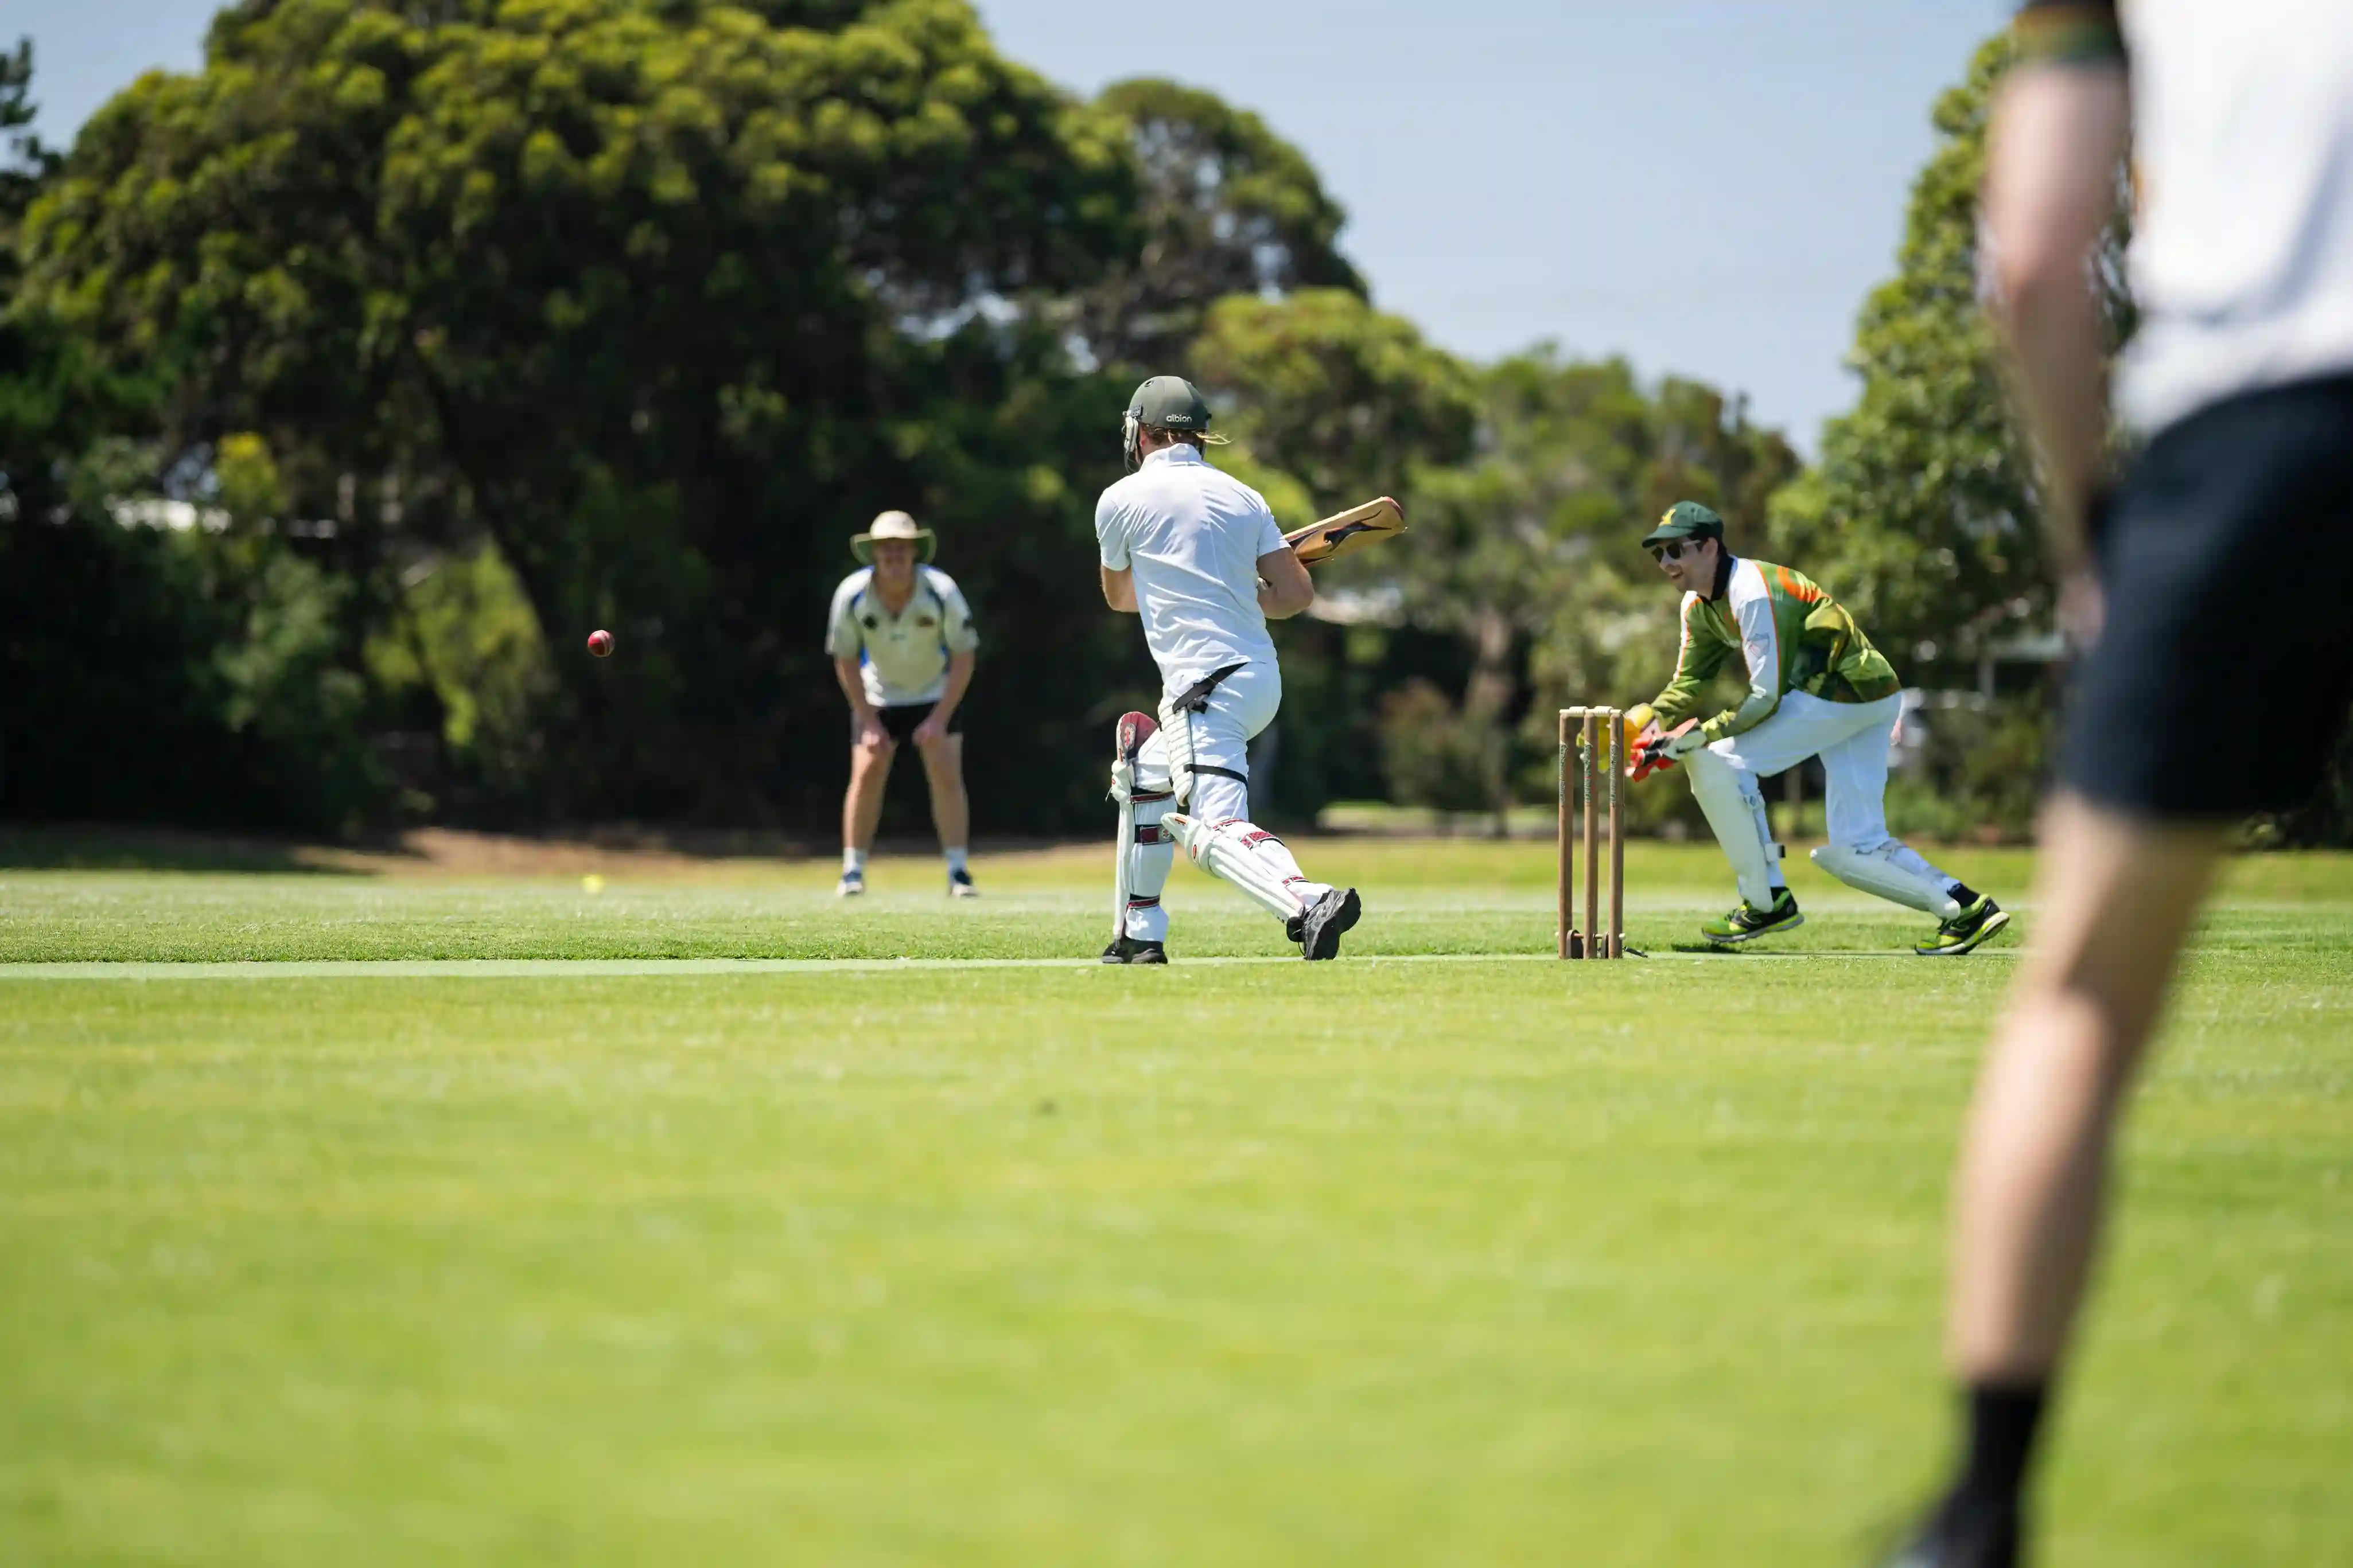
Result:
[[[1967,1382],[2040,1382],[2066,1349],[2115,1112],[2214,853],[2212,830],[2071,795],[2045,813],[2042,912],[1960,1159],[1951,1356]]]

